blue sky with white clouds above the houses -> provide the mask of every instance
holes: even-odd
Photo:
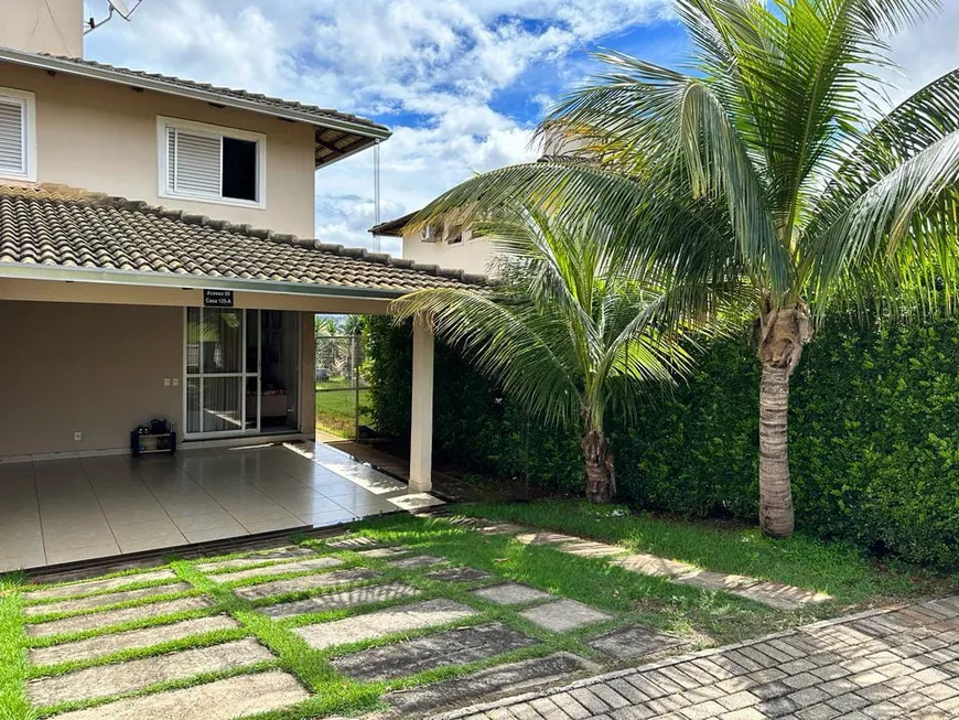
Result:
[[[946,17],[896,39],[901,93],[959,66]],[[101,17],[106,0],[86,0]],[[612,49],[664,65],[686,40],[668,0],[143,0],[87,36],[86,56],[334,107],[394,130],[384,219],[473,172],[536,157],[531,129]],[[369,246],[373,153],[316,174],[316,236]],[[398,252],[395,243],[384,250]]]

